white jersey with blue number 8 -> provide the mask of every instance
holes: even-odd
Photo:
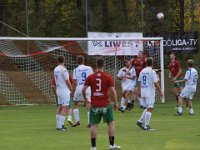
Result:
[[[141,97],[155,97],[158,76],[151,67],[144,68],[139,75],[138,81],[141,82]]]

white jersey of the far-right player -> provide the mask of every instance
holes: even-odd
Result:
[[[198,72],[194,68],[189,68],[185,73],[185,86],[193,87],[196,89],[197,87],[197,79],[198,79]]]

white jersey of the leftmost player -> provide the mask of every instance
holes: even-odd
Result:
[[[54,79],[56,82],[56,90],[65,90],[67,93],[70,93],[70,90],[66,84],[66,80],[69,80],[69,73],[67,69],[62,66],[58,65],[54,69]]]

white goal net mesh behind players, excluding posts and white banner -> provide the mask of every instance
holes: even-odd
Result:
[[[160,68],[160,46],[152,40],[140,42],[144,52],[154,58],[154,66]],[[59,55],[66,57],[65,65],[70,74],[77,66],[77,55],[84,55],[85,64],[93,69],[96,60],[104,58],[105,71],[115,79],[119,95],[120,82],[116,74],[123,67],[124,60],[133,57],[88,55],[88,41],[0,40],[0,95],[10,104],[55,102],[51,81]]]

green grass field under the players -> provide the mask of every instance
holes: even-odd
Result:
[[[142,110],[115,112],[116,143],[122,150],[198,150],[200,149],[199,103],[195,101],[195,116],[174,116],[175,103],[156,104],[151,126],[155,131],[143,131],[136,126]],[[1,150],[89,150],[89,129],[86,110],[80,108],[81,126],[67,131],[55,130],[55,106],[0,107]],[[106,124],[98,132],[98,150],[108,149]]]

